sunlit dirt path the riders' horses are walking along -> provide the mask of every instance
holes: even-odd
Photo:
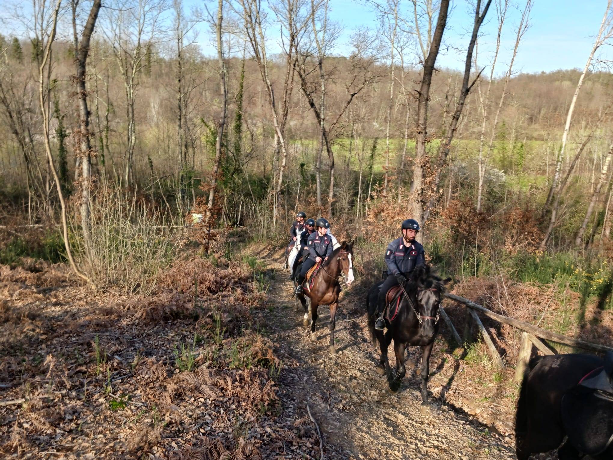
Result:
[[[308,404],[321,427],[327,458],[360,459],[512,459],[512,439],[489,431],[454,407],[431,399],[422,415],[418,381],[407,366],[400,390],[389,393],[384,377],[375,372],[378,355],[368,340],[362,299],[343,291],[337,315],[337,355],[329,355],[329,309],[319,309],[318,340],[302,325],[302,312],[291,297],[291,282],[278,253],[256,254],[270,270],[268,334],[283,360],[282,401],[297,410]],[[343,294],[349,293],[348,296]],[[417,361],[417,349],[408,359]],[[394,353],[390,351],[394,366]],[[429,388],[444,358],[433,353]],[[442,378],[442,377],[441,377]],[[436,394],[436,391],[434,392]]]

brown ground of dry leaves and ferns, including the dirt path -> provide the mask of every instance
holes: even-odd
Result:
[[[511,370],[492,378],[443,328],[422,412],[418,349],[397,393],[375,371],[364,283],[341,293],[330,355],[329,310],[312,340],[283,251],[244,253],[256,277],[189,259],[144,299],[94,293],[62,265],[0,266],[0,457],[514,458]]]

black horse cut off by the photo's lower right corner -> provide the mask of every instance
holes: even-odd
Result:
[[[558,448],[560,460],[613,458],[613,353],[537,356],[517,401],[518,460]],[[562,445],[560,445],[562,444]]]

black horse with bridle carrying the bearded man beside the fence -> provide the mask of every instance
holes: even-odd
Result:
[[[377,297],[379,295],[379,282],[374,285],[366,299],[368,310],[368,329],[370,337],[376,345],[379,342],[381,348],[381,358],[379,359],[378,372],[387,375],[389,389],[398,391],[400,382],[405,377],[405,348],[421,347],[421,379],[422,379],[422,401],[423,405],[428,404],[428,374],[430,372],[428,361],[434,345],[434,339],[438,333],[439,307],[441,304],[441,294],[444,292],[444,285],[451,281],[451,278],[441,280],[432,273],[430,266],[419,266],[411,274],[411,280],[405,283],[405,293],[400,292],[400,302],[398,312],[394,321],[390,323],[386,318],[387,331],[375,329]],[[395,310],[394,299],[394,310]],[[394,339],[394,353],[396,355],[396,375],[392,375],[387,359],[387,347]]]

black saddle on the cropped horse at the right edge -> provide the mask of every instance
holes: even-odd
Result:
[[[562,423],[569,440],[581,453],[599,455],[613,445],[613,353],[604,366],[579,381],[562,397]]]

